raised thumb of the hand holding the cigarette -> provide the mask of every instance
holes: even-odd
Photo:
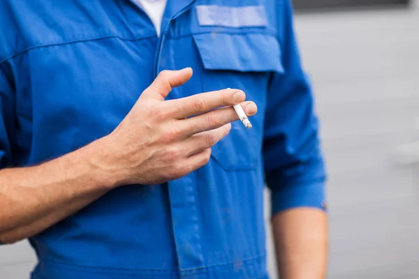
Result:
[[[192,77],[192,69],[163,70],[156,77],[156,80],[142,92],[140,98],[154,98],[164,100],[173,87],[181,86]]]

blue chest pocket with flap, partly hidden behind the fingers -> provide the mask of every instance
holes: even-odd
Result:
[[[268,33],[200,33],[193,35],[202,60],[203,89],[241,89],[258,113],[244,128],[232,123],[230,134],[212,148],[212,158],[226,170],[255,169],[262,153],[267,87],[273,72],[284,73],[277,38]]]

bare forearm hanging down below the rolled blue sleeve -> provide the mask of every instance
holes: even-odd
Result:
[[[281,279],[323,279],[328,262],[328,218],[319,209],[295,208],[272,219]]]

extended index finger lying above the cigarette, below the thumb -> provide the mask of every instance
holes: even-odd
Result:
[[[196,94],[190,97],[165,102],[166,111],[177,119],[202,114],[219,107],[237,105],[246,100],[246,95],[238,89],[223,89]]]

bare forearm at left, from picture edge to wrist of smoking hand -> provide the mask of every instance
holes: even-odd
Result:
[[[41,165],[0,170],[0,241],[37,234],[115,186],[104,139]]]

